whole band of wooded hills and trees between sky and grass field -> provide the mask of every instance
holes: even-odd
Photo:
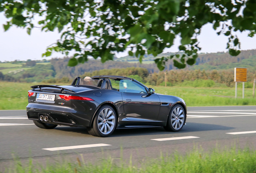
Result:
[[[170,54],[173,53],[160,54],[159,56],[169,56]],[[128,57],[125,58],[127,59]],[[147,58],[152,60],[152,55],[147,55],[145,60]],[[152,85],[163,85],[166,72],[167,85],[169,86],[180,84],[181,82],[182,84],[196,86],[198,83],[202,83],[203,80],[204,84],[201,85],[212,86],[214,83],[219,83],[232,87],[234,85],[233,71],[235,67],[248,68],[248,82],[252,81],[256,71],[256,50],[244,50],[235,57],[224,52],[200,54],[195,65],[187,66],[183,70],[175,68],[172,60],[169,60],[166,62],[164,72],[160,72],[155,63],[140,64],[120,61],[101,63],[100,60],[88,60],[84,64],[70,67],[67,66],[69,59],[66,57],[53,58],[50,61],[15,60],[9,63],[22,64],[24,69],[15,73],[0,73],[0,80],[54,82],[60,79],[65,81],[72,80],[75,76],[121,75],[132,76]]]

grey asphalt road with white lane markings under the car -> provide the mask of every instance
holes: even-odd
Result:
[[[186,153],[197,147],[204,151],[216,146],[256,149],[255,124],[256,106],[188,107],[188,119],[180,132],[162,127],[121,129],[101,138],[81,127],[40,129],[27,119],[25,110],[0,111],[0,168],[8,167],[16,157],[36,162],[79,157],[94,162],[111,155],[141,161],[157,158],[161,152]]]

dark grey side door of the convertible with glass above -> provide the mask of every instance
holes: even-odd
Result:
[[[131,121],[156,121],[160,100],[156,94],[149,95],[141,84],[122,79],[120,80],[120,92],[122,94],[124,115]]]

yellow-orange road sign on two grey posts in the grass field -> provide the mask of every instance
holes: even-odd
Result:
[[[247,68],[235,68],[235,98],[237,98],[237,82],[243,82],[243,99],[244,99],[244,82],[247,82]]]

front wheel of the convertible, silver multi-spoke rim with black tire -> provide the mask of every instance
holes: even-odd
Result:
[[[175,105],[169,113],[167,125],[164,127],[166,131],[178,132],[182,129],[186,121],[184,108],[181,105]]]

